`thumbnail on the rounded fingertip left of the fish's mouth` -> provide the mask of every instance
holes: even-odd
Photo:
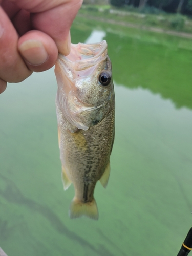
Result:
[[[48,53],[38,40],[28,40],[18,47],[22,56],[32,65],[40,65],[48,59]]]

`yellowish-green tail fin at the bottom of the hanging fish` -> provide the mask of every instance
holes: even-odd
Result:
[[[78,218],[81,216],[87,216],[91,219],[98,220],[99,214],[95,199],[92,202],[83,203],[77,199],[73,199],[69,209],[70,218]]]

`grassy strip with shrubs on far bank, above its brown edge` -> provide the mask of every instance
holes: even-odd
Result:
[[[192,20],[180,14],[141,13],[138,12],[138,8],[115,8],[110,5],[82,5],[79,14],[98,18],[104,17],[105,19],[113,19],[114,22],[124,22],[140,27],[192,33]]]

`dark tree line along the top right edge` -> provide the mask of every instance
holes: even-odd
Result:
[[[139,9],[150,6],[165,12],[192,15],[192,0],[110,0],[110,3],[118,7],[132,5]]]

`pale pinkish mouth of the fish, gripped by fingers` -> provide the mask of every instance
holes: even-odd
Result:
[[[75,71],[83,71],[106,59],[107,43],[105,40],[94,44],[71,44],[68,56],[59,54],[59,58]]]

